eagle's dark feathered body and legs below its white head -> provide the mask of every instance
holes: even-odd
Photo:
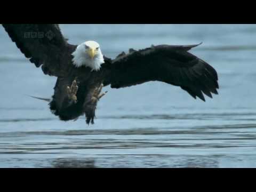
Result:
[[[100,86],[103,81],[103,74],[100,72],[91,72],[89,68],[82,68],[83,74],[70,74],[66,77],[58,77],[54,87],[54,95],[49,103],[51,111],[59,116],[63,121],[69,121],[85,114],[92,120],[95,116],[97,102],[91,101],[93,91]],[[77,103],[70,103],[66,94],[66,86],[70,85],[74,79],[77,79],[79,89],[77,91]]]

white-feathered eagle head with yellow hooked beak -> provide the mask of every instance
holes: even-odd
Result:
[[[72,55],[72,61],[76,67],[86,66],[90,67],[92,71],[98,71],[101,64],[104,63],[100,45],[95,41],[86,41],[78,45]]]

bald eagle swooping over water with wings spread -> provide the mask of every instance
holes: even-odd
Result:
[[[103,86],[129,87],[149,81],[180,86],[193,98],[205,101],[218,94],[217,72],[188,51],[198,45],[157,45],[139,51],[130,49],[115,59],[105,57],[100,45],[86,41],[71,45],[59,25],[6,25],[4,29],[20,51],[45,75],[56,76],[49,101],[53,114],[63,121],[85,114],[93,124]]]

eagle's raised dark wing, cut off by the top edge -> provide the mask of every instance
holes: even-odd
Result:
[[[67,43],[57,24],[3,24],[10,38],[20,51],[35,63],[42,65],[47,75],[61,76],[65,73],[67,52],[74,45]]]

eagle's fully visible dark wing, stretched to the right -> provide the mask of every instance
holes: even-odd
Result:
[[[193,98],[205,101],[218,94],[218,75],[213,67],[187,52],[198,45],[151,46],[144,50],[121,53],[111,61],[105,85],[112,88],[137,85],[148,81],[162,81],[186,90]],[[203,92],[203,93],[202,93]]]

